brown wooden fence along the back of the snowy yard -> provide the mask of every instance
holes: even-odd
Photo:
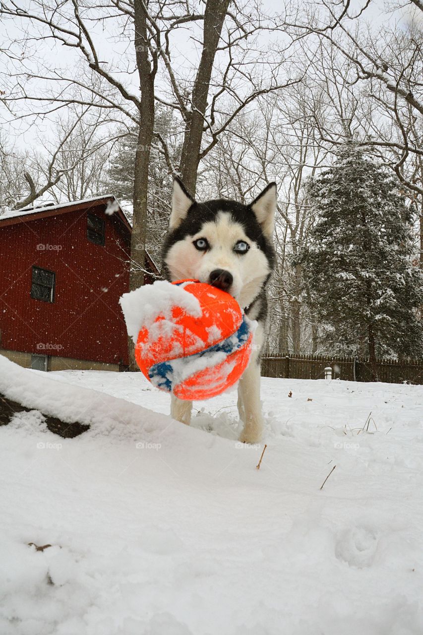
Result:
[[[323,379],[325,368],[332,368],[332,378],[348,381],[372,382],[373,372],[368,359],[342,358],[325,355],[286,354],[262,359],[263,377],[293,379]],[[392,384],[423,384],[423,360],[396,361],[378,359],[377,374],[380,382]]]

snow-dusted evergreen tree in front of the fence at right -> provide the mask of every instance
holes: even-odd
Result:
[[[323,349],[370,358],[423,352],[423,282],[412,219],[394,176],[353,143],[308,185],[316,224],[302,251]]]

